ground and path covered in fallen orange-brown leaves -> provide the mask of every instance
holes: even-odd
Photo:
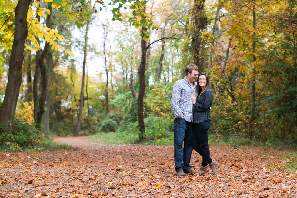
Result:
[[[1,152],[0,197],[297,197],[296,156],[285,151],[211,145],[217,173],[180,177],[172,146],[56,141],[78,149]],[[201,160],[193,152],[194,169]]]

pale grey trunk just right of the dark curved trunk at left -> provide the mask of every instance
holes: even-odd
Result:
[[[50,95],[51,95],[51,90],[50,90],[50,79],[51,79],[51,76],[52,76],[52,67],[53,67],[53,64],[52,64],[52,52],[51,50],[48,51],[48,54],[46,55],[46,61],[47,61],[47,64],[48,64],[48,81],[47,81],[47,89],[46,89],[46,96],[45,96],[45,101],[46,101],[46,104],[45,104],[45,108],[46,108],[46,111],[44,112],[44,115],[43,115],[43,126],[44,126],[44,129],[46,131],[46,133],[50,133],[49,131],[49,111],[50,111]]]

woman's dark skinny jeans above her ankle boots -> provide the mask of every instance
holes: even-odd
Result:
[[[207,166],[207,163],[212,163],[212,159],[209,156],[209,146],[208,146],[208,129],[210,127],[210,121],[206,120],[194,124],[192,132],[192,147],[199,155],[202,156],[201,166]]]

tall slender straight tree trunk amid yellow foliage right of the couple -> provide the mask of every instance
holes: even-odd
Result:
[[[253,9],[253,28],[256,29],[256,12],[255,12],[255,5]],[[253,63],[256,62],[255,51],[256,51],[256,33],[254,32],[254,42],[253,42]],[[256,90],[255,90],[255,74],[256,74],[256,65],[253,65],[253,73],[252,73],[252,105],[251,105],[251,115],[249,118],[249,125],[248,125],[248,137],[252,137],[252,123],[255,119],[255,108],[256,108]]]

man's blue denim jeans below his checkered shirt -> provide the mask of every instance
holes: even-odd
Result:
[[[192,129],[193,123],[186,121],[184,118],[174,119],[174,163],[175,170],[184,171],[192,168],[190,160],[192,155]],[[184,148],[182,148],[182,143]]]

